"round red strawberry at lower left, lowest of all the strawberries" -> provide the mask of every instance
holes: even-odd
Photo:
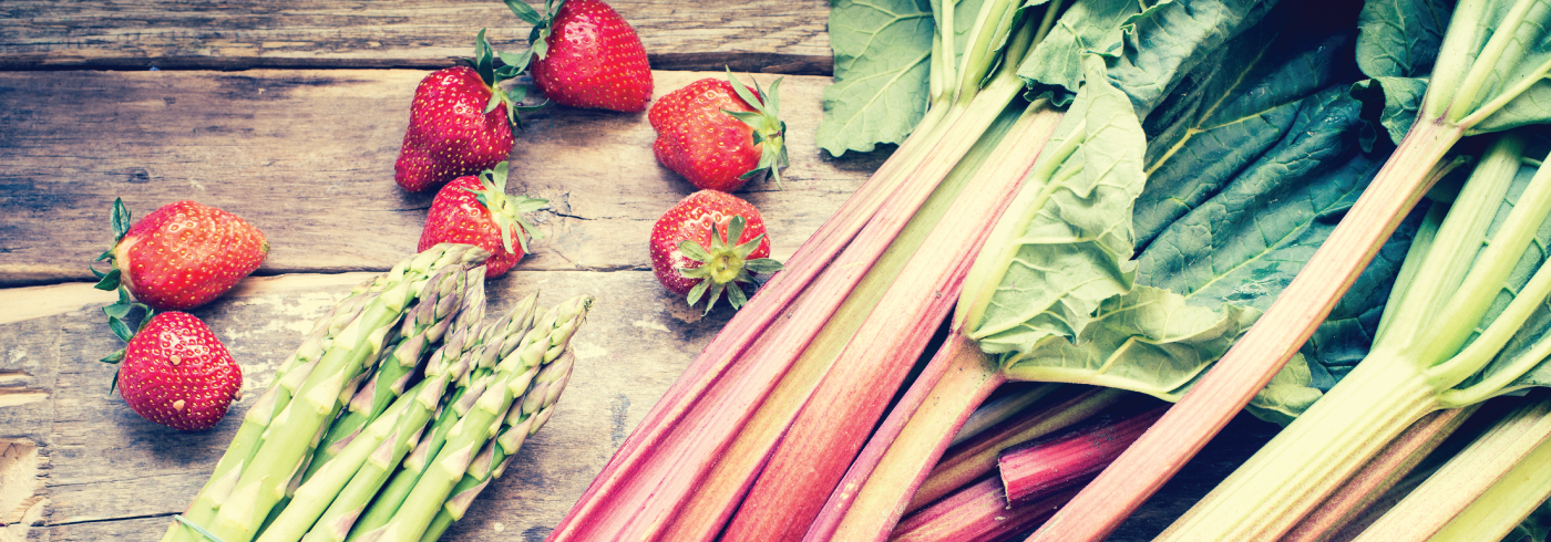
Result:
[[[188,313],[157,313],[118,367],[118,392],[143,418],[180,431],[214,427],[242,389],[242,367]]]

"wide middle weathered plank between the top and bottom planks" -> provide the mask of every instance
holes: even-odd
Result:
[[[0,286],[90,280],[107,209],[175,200],[236,212],[270,240],[261,274],[386,269],[414,249],[433,194],[392,164],[419,70],[0,73]],[[658,94],[718,73],[658,71]],[[774,77],[760,76],[763,82]],[[879,156],[814,146],[828,77],[782,85],[785,190],[743,194],[777,257],[825,220]],[[548,107],[526,119],[509,190],[551,201],[529,269],[645,269],[651,223],[689,183],[651,155],[645,113]]]

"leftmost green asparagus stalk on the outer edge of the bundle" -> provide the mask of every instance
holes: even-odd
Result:
[[[408,265],[408,262],[400,265]],[[316,367],[316,361],[323,356],[326,345],[361,314],[361,308],[368,302],[386,290],[388,280],[385,279],[389,274],[380,274],[352,288],[329,313],[318,317],[312,333],[302,339],[296,353],[281,362],[281,367],[275,373],[275,381],[248,407],[247,415],[244,415],[242,426],[237,427],[237,435],[233,437],[226,454],[216,463],[216,471],[211,474],[209,482],[200,489],[189,509],[183,513],[186,520],[195,525],[206,525],[216,517],[220,502],[231,494],[237,477],[242,475],[242,466],[253,461],[253,454],[257,452],[262,434],[268,427],[270,420],[290,403],[292,395],[307,379],[312,369]],[[168,528],[166,539],[172,539],[174,536],[180,539],[199,539],[199,533],[183,527],[180,522],[172,522]]]

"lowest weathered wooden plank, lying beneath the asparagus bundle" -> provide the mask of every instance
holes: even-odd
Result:
[[[57,367],[48,386],[51,412],[0,409],[0,415],[11,415],[0,427],[14,431],[19,426],[12,420],[23,415],[33,427],[25,435],[50,444],[40,492],[51,500],[45,523],[62,539],[85,539],[82,530],[101,536],[104,522],[115,523],[113,533],[127,540],[155,539],[168,516],[186,508],[209,477],[242,412],[268,387],[275,367],[301,342],[310,322],[369,276],[273,277],[195,310],[242,364],[245,396],[216,429],[197,434],[141,420],[109,395],[115,369],[93,359],[123,342],[98,322],[101,305],[0,325],[0,345],[16,345],[0,352],[0,370]],[[540,291],[541,305],[575,294],[597,297],[572,339],[577,369],[560,410],[524,444],[499,489],[492,491],[521,508],[492,514],[490,522],[512,531],[548,528],[727,314],[701,317],[698,310],[668,299],[645,271],[513,273],[492,280],[489,291],[493,311],[504,311],[532,291]],[[6,300],[6,290],[0,290],[0,304]],[[146,517],[163,520],[126,522]],[[448,539],[504,539],[492,523],[479,525],[489,534]]]

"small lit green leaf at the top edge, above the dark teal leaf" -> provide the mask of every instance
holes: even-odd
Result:
[[[1273,5],[1270,0],[1154,3],[1126,20],[1120,46],[1111,50],[1109,79],[1145,118],[1182,74],[1258,23]]]

